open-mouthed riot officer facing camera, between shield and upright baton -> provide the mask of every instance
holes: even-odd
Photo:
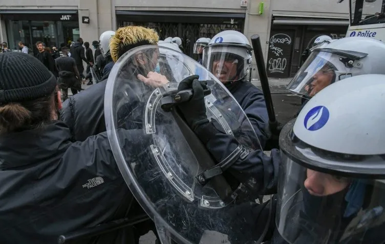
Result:
[[[238,31],[223,31],[204,48],[203,66],[226,86],[241,105],[264,148],[270,137],[268,115],[262,91],[247,81],[251,72],[251,51],[245,35]]]

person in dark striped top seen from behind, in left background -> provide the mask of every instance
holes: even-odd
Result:
[[[69,48],[61,48],[62,57],[55,59],[56,68],[59,72],[57,84],[61,90],[61,100],[64,102],[68,98],[68,88],[71,88],[72,94],[81,90],[79,70],[76,67],[74,58],[68,56]]]

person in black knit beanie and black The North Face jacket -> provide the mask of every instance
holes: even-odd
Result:
[[[56,78],[38,59],[0,54],[0,70],[1,243],[56,243],[59,235],[125,217],[133,196],[106,134],[73,142],[57,120]],[[135,131],[124,133],[124,150],[142,148],[132,147]],[[133,243],[133,236],[126,227],[81,243]]]

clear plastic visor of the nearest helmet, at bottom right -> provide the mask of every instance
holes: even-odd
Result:
[[[318,172],[281,151],[276,226],[289,243],[383,243],[383,180]]]

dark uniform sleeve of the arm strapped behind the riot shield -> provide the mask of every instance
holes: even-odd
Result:
[[[240,143],[232,135],[217,129],[215,123],[207,123],[196,130],[198,137],[206,144],[211,155],[222,162],[239,148]],[[262,150],[244,154],[229,167],[228,171],[242,182],[255,196],[276,193],[280,153],[272,150],[266,156]]]

